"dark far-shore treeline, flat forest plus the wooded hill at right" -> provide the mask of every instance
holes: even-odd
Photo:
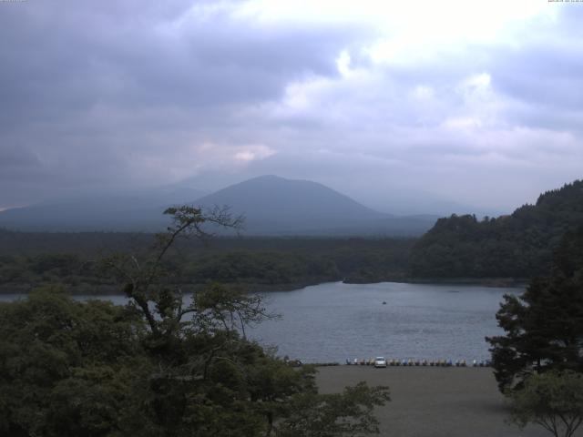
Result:
[[[509,285],[545,274],[553,250],[583,226],[583,181],[542,194],[511,215],[439,219],[420,239],[215,238],[186,240],[167,260],[174,283],[238,283],[286,290],[324,281],[480,280]],[[15,232],[0,229],[0,291],[60,282],[77,293],[115,292],[96,259],[139,254],[151,235],[121,232]]]

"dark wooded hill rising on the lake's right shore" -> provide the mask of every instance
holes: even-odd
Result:
[[[412,249],[414,277],[531,278],[546,274],[552,251],[583,225],[583,181],[540,195],[509,216],[439,219]]]

